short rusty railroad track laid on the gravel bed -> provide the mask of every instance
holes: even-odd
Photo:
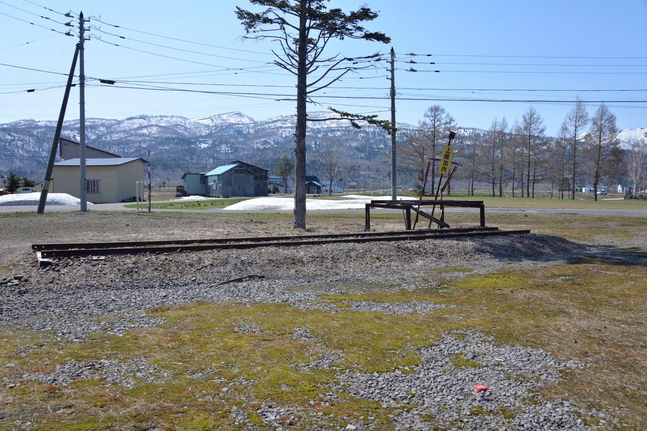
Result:
[[[41,258],[54,258],[85,255],[134,255],[139,253],[169,253],[173,251],[247,249],[255,247],[316,246],[342,242],[362,243],[460,237],[491,237],[494,235],[517,235],[523,233],[530,233],[530,231],[501,231],[498,227],[465,227],[457,229],[424,229],[418,231],[289,235],[283,237],[32,244],[32,249],[39,253]]]

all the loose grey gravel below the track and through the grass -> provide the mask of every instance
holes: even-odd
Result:
[[[427,313],[443,306],[430,302],[350,300],[344,308],[337,308],[336,302],[323,300],[318,295],[362,295],[365,290],[429,287],[433,286],[430,279],[448,269],[455,276],[475,271],[485,273],[510,265],[547,265],[578,257],[642,259],[614,255],[615,249],[611,247],[583,246],[548,235],[523,235],[162,253],[98,260],[60,258],[52,266],[41,269],[34,255],[25,250],[24,240],[19,247],[11,235],[4,242],[9,246],[8,256],[17,264],[0,270],[0,327],[49,330],[50,337],[57,342],[84,342],[89,333],[122,334],[129,328],[157,326],[164,319],[147,317],[144,312],[195,301],[285,302],[301,310],[337,313],[376,310],[394,314]],[[221,284],[243,275],[258,277]],[[263,332],[254,322],[241,324],[236,329]],[[307,328],[292,331],[293,337],[320,342]],[[349,372],[352,366],[344,365],[341,351],[321,353],[312,363],[295,366],[302,371],[335,370],[339,391],[396,408],[392,419],[398,430],[427,431],[433,424],[452,425],[457,421],[468,429],[589,429],[576,416],[577,410],[584,407],[576,406],[573,400],[550,403],[532,392],[545,383],[557,382],[560,370],[580,368],[584,364],[560,361],[542,350],[495,345],[481,333],[468,333],[462,340],[446,334],[429,348],[410,348],[419,350],[421,365],[395,372]],[[456,357],[476,366],[457,366],[452,362]],[[209,373],[193,377],[205,379]],[[161,384],[168,375],[140,357],[123,363],[72,361],[57,365],[47,375],[17,375],[3,383],[11,387],[14,381],[27,379],[64,386],[75,379],[89,377],[102,379],[102,384],[131,387],[139,381]],[[225,385],[250,382],[222,383],[222,391],[226,392]],[[472,390],[474,384],[485,384],[489,389],[477,394]],[[199,396],[207,399],[210,395]],[[334,402],[334,396],[322,394],[311,403],[325,405]],[[417,406],[408,407],[413,404]],[[514,414],[505,414],[513,411]],[[244,410],[232,406],[228,412],[236,423],[256,428],[249,423]],[[498,414],[490,415],[492,412]],[[314,416],[309,417],[291,406],[263,405],[257,413],[263,423],[277,428],[289,426],[291,421],[292,424],[311,421],[315,425],[313,429],[336,428],[316,425],[327,420],[321,413],[311,413]],[[591,414],[591,410],[587,413]],[[593,413],[600,417],[602,428],[615,421],[609,412]],[[336,423],[345,421],[350,426],[347,429],[380,429],[372,417],[328,418],[333,419]]]

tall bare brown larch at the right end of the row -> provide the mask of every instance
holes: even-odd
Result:
[[[598,184],[600,178],[611,173],[617,167],[618,129],[615,125],[615,115],[602,103],[591,117],[591,131],[586,136],[585,160],[587,167],[593,173],[593,198],[598,200]]]

